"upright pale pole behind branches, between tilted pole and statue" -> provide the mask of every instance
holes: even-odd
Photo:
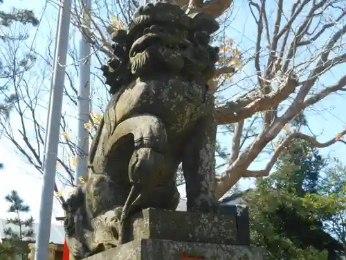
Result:
[[[84,4],[84,22],[85,26],[90,24],[90,0],[82,0]],[[80,85],[78,89],[78,158],[75,171],[75,184],[80,183],[80,176],[88,171],[88,153],[89,153],[89,132],[84,124],[89,122],[90,114],[90,44],[85,38],[80,39]]]

